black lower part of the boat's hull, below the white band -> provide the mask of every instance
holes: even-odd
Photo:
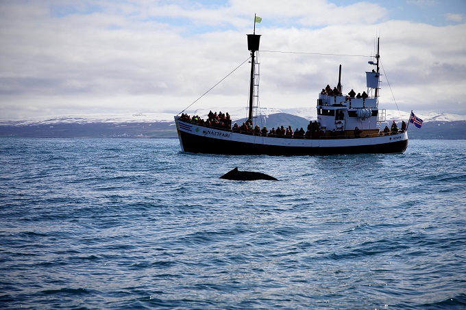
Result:
[[[179,131],[183,151],[223,155],[342,155],[363,153],[403,153],[408,147],[408,139],[383,144],[355,146],[276,146],[221,140]],[[282,139],[282,138],[275,138]],[[361,138],[364,140],[371,138]],[[356,139],[354,139],[356,140]]]

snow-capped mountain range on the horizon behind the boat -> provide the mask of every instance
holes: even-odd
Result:
[[[206,119],[207,114],[221,109],[197,109],[191,116]],[[247,109],[225,110],[232,122],[241,125]],[[317,119],[315,108],[275,109],[261,108],[255,123],[268,128],[291,125],[306,129],[309,121]],[[387,122],[407,121],[410,112],[386,110]],[[34,138],[176,138],[174,114],[127,113],[36,116],[21,119],[0,119],[1,137]],[[417,115],[424,120],[421,129],[409,127],[411,139],[466,139],[466,116],[434,112]]]

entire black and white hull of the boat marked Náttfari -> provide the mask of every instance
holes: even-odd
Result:
[[[408,133],[369,138],[295,139],[248,135],[183,122],[175,117],[182,151],[223,155],[343,155],[404,153]]]

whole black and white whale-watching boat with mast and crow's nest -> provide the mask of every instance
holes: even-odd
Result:
[[[254,125],[253,115],[258,100],[258,64],[260,34],[247,34],[250,51],[251,75],[249,77],[249,119],[242,128],[214,126],[211,122],[191,119],[187,114],[175,116],[175,125],[181,150],[188,153],[224,155],[341,155],[363,153],[404,153],[408,146],[408,133],[403,122],[401,130],[393,120],[392,128],[382,129],[386,122],[385,109],[379,109],[380,68],[379,42],[376,55],[369,62],[372,70],[366,72],[367,92],[355,96],[354,90],[343,94],[341,86],[341,65],[339,83],[335,88],[327,86],[317,98],[317,120],[310,122],[308,130],[298,134],[262,131]],[[375,68],[374,68],[375,67]],[[330,89],[329,89],[330,88]],[[218,118],[217,115],[215,115]],[[223,124],[225,124],[223,123]],[[246,127],[244,127],[246,125]],[[257,130],[257,129],[260,130]],[[282,129],[284,129],[282,127]],[[289,127],[292,129],[292,127]],[[267,132],[266,132],[267,131]]]

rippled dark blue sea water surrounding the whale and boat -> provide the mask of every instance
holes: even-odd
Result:
[[[1,138],[0,309],[466,309],[465,164]]]

